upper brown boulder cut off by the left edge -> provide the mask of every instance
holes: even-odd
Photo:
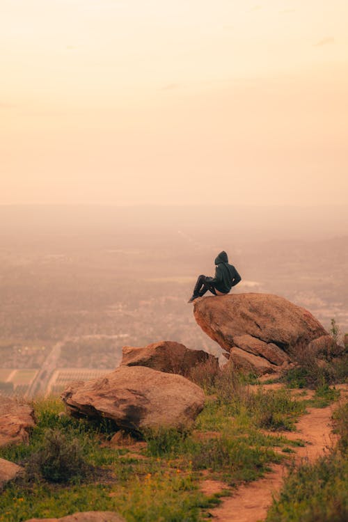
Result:
[[[35,425],[34,411],[29,404],[0,395],[0,447],[29,441]]]

